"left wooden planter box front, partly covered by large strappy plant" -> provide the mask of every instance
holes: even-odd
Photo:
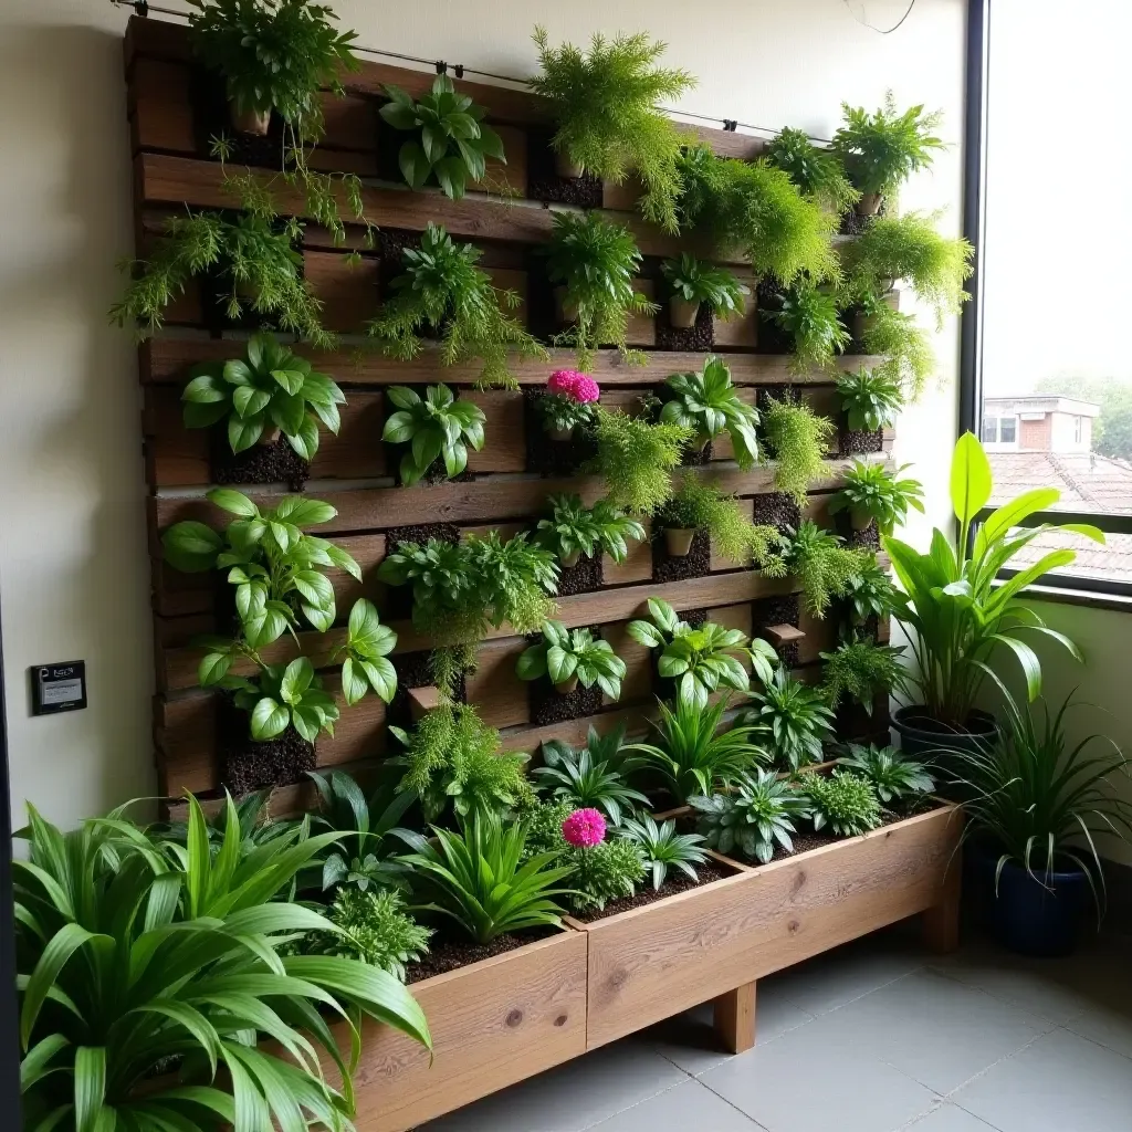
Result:
[[[404,1132],[585,1053],[586,936],[567,931],[410,986],[428,1050],[367,1022],[358,1132]]]

